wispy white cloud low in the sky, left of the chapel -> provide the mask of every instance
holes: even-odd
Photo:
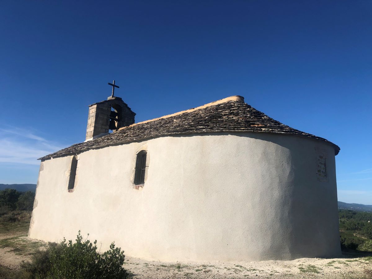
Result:
[[[0,163],[38,165],[37,158],[59,149],[31,129],[0,128]]]

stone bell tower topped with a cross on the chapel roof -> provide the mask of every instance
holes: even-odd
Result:
[[[114,89],[119,88],[113,83],[112,94],[107,100],[89,105],[88,125],[85,141],[102,137],[109,133],[117,131],[121,127],[134,124],[134,116],[131,108],[120,97],[114,96]]]

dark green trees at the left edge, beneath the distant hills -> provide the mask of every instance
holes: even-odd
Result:
[[[35,193],[19,192],[15,189],[5,189],[0,191],[0,210],[28,210],[33,208]]]

